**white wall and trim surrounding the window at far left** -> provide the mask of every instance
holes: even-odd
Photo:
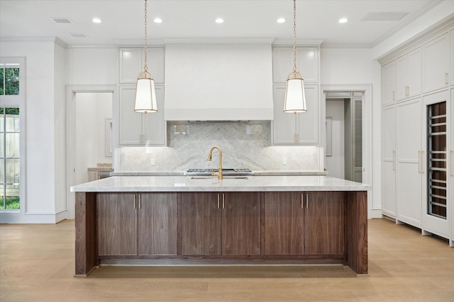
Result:
[[[26,57],[26,204],[1,222],[55,223],[55,41],[0,43],[2,57]],[[23,118],[21,116],[21,118]],[[65,144],[61,146],[65,148]]]

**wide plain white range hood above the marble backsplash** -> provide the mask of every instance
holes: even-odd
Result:
[[[272,120],[271,43],[167,44],[165,120]]]

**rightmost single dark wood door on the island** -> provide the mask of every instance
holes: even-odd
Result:
[[[304,254],[342,255],[344,252],[343,192],[306,192]]]

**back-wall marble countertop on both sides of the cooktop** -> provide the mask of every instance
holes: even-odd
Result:
[[[183,176],[185,171],[115,171],[112,176]],[[328,175],[318,170],[261,170],[254,171],[255,176],[283,176],[283,175]]]

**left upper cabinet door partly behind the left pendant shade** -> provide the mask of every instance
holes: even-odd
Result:
[[[142,144],[142,113],[134,112],[135,85],[120,86],[120,145]]]

